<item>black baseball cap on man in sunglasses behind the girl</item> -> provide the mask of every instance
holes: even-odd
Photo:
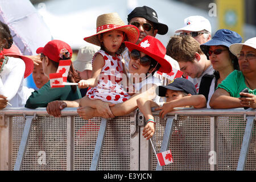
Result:
[[[156,14],[155,10],[150,7],[135,7],[135,9],[128,15],[127,21],[130,22],[134,17],[142,17],[154,23],[155,29],[158,30],[158,34],[160,35],[164,35],[168,32],[168,26],[158,22],[158,14]]]

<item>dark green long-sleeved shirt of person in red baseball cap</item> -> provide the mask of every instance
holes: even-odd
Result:
[[[62,88],[51,88],[50,82],[48,81],[42,88],[32,92],[28,98],[25,107],[35,109],[37,107],[47,107],[49,102],[52,101],[74,101],[81,98],[80,90],[77,86],[76,92],[74,93],[70,85],[66,85]]]

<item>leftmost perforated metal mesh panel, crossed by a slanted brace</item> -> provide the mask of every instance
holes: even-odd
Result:
[[[21,138],[24,123],[17,125],[16,122],[20,121],[13,121],[13,137]],[[17,130],[15,126],[20,128]],[[18,148],[14,148],[13,167],[18,153]],[[32,125],[22,170],[65,169],[67,169],[67,118],[38,117]]]

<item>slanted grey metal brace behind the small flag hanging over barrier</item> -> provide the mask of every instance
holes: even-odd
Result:
[[[160,152],[167,151],[170,145],[172,130],[174,129],[174,121],[175,121],[174,116],[167,118],[166,128],[164,129],[163,141],[160,148]],[[157,164],[156,171],[163,171],[163,169],[164,169],[164,166],[159,166],[159,164]]]

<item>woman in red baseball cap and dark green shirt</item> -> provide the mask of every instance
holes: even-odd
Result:
[[[72,57],[71,47],[61,40],[52,40],[48,42],[46,46],[38,48],[36,53],[41,53],[43,71],[47,77],[49,77],[50,73],[56,73],[60,60],[70,60]],[[68,72],[67,81],[80,81],[80,77],[75,69],[73,69],[72,63]],[[77,85],[51,88],[50,82],[48,81],[41,89],[31,94],[25,107],[35,109],[37,107],[47,107],[49,102],[56,100],[73,101],[80,98],[81,93]]]

